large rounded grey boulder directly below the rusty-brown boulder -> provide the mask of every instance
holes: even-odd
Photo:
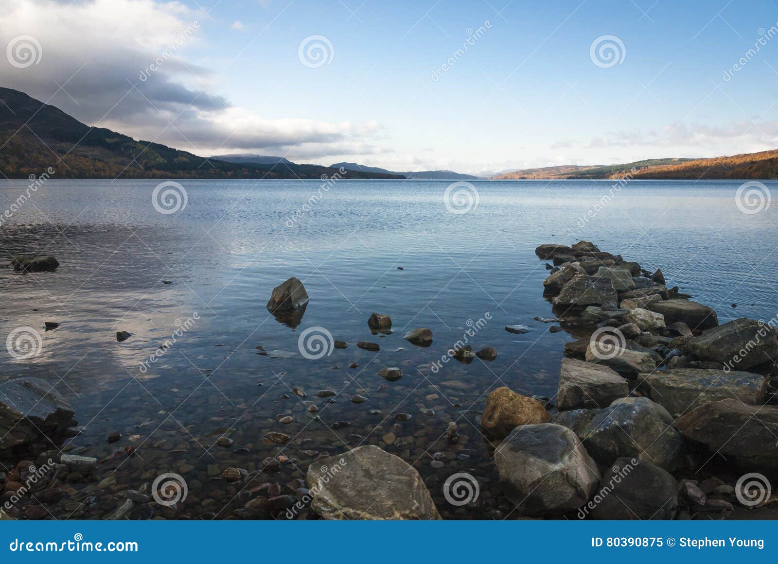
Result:
[[[597,488],[597,464],[573,431],[552,423],[514,429],[494,453],[500,482],[521,514],[562,514]]]

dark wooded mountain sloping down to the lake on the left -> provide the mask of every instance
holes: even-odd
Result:
[[[104,127],[89,127],[55,106],[18,90],[0,88],[0,178],[315,178],[337,169],[293,162],[254,164],[198,157],[187,151],[135,139]],[[402,178],[349,171],[348,178]]]

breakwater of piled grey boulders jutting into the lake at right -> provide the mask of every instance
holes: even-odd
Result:
[[[499,388],[482,426],[524,514],[724,518],[769,506],[778,478],[775,319],[734,319],[661,269],[591,242],[535,249],[566,343],[553,416]],[[743,478],[756,476],[744,486]]]

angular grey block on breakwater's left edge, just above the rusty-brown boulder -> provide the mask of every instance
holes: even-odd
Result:
[[[565,409],[608,407],[614,399],[629,395],[627,381],[606,366],[562,359],[556,406]]]

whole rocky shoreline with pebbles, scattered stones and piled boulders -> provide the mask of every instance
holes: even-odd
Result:
[[[565,330],[577,339],[564,346],[555,398],[527,397],[505,386],[486,397],[477,424],[492,459],[478,467],[499,476],[499,485],[480,484],[478,503],[491,507],[489,515],[725,518],[742,508],[773,507],[769,496],[752,503],[753,492],[741,477],[759,472],[769,487],[778,475],[775,324],[752,319],[719,324],[713,308],[677,287],[668,288],[661,270],[644,270],[591,242],[540,245],[535,253],[550,261],[544,296],[555,315],[536,320],[553,323],[551,332]],[[272,291],[267,308],[276,319],[296,326],[307,303],[302,282],[289,278]],[[388,315],[373,313],[367,325],[373,335],[391,334]],[[531,331],[520,325],[505,329]],[[405,341],[428,347],[433,332],[412,329]],[[379,343],[355,344],[368,352],[380,350]],[[333,346],[348,348],[349,343],[336,340]],[[455,343],[436,366],[449,359],[468,364],[496,356],[492,346],[474,352],[469,344]],[[436,374],[435,366],[431,372]],[[400,367],[384,366],[378,374],[384,387],[402,378]],[[299,387],[291,395],[307,398]],[[318,420],[317,403],[326,409],[336,395],[327,389],[316,393],[316,402],[303,399],[305,416]],[[433,417],[438,409],[438,395],[426,399],[434,409],[420,405],[419,417]],[[350,397],[352,404],[366,401],[365,395]],[[404,436],[402,423],[412,416],[395,413],[393,425],[382,427],[380,437],[368,433],[370,440],[363,444],[352,433],[363,446],[338,454],[342,445],[322,448],[282,433],[296,416],[279,414],[279,426],[256,437],[257,444],[277,454],[250,464],[233,462],[250,451],[233,446],[229,433],[223,433],[215,443],[217,458],[231,463],[209,465],[202,478],[187,477],[192,490],[187,505],[202,503],[201,518],[436,520],[442,489],[442,503],[458,507],[464,517],[462,506],[478,499],[478,480],[459,472],[441,488],[436,475],[423,478],[417,469],[417,451],[434,452],[431,468],[451,468],[443,461],[452,460],[468,464],[464,433],[472,423],[462,416],[446,417],[440,437],[432,429]],[[185,482],[152,471],[142,475],[148,481],[135,486],[117,482],[114,470],[125,461],[143,467],[132,444],[100,461],[76,454],[81,451],[72,444],[61,451],[59,440],[78,433],[75,425],[71,406],[46,381],[17,378],[0,385],[0,459],[7,468],[0,472],[0,518],[55,517],[51,511],[58,503],[58,516],[65,510],[82,518],[187,518],[180,511]],[[349,422],[331,426],[338,430]],[[107,441],[121,437],[111,433]],[[186,447],[181,443],[170,452],[183,453]],[[293,447],[290,456],[299,458],[287,457],[287,447]],[[180,462],[174,468],[184,475],[192,472],[194,466]],[[464,482],[452,482],[463,475]],[[452,501],[457,487],[464,488],[459,492],[464,503]],[[209,497],[201,499],[201,492]],[[109,511],[101,505],[106,501]]]

